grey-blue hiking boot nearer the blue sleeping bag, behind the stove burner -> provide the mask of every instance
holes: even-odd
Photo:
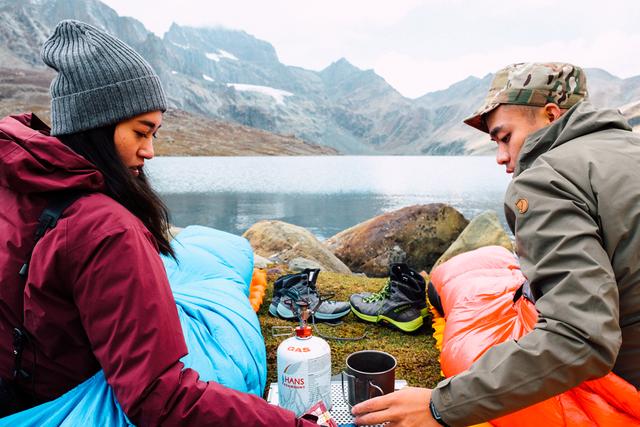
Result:
[[[298,320],[296,301],[305,300],[310,309],[315,309],[313,317],[317,321],[336,322],[348,315],[351,311],[348,302],[323,300],[318,305],[321,298],[316,288],[319,272],[319,269],[306,269],[302,273],[279,277],[274,283],[269,314],[286,320]]]

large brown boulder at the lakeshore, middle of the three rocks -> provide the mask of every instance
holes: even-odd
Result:
[[[389,263],[427,270],[469,222],[449,205],[408,206],[344,230],[325,242],[352,271],[384,277]]]

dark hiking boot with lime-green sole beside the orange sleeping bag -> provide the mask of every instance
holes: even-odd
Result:
[[[391,264],[389,281],[376,293],[351,295],[351,311],[367,322],[387,322],[413,332],[429,312],[424,278],[406,264]]]

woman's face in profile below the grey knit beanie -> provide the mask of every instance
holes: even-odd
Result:
[[[161,111],[140,114],[116,125],[116,152],[133,176],[139,176],[144,161],[153,158],[153,139],[161,125]]]

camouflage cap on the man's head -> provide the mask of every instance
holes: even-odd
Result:
[[[464,122],[488,133],[483,116],[500,104],[571,108],[586,97],[587,77],[580,67],[561,62],[512,64],[496,73],[484,103]]]

